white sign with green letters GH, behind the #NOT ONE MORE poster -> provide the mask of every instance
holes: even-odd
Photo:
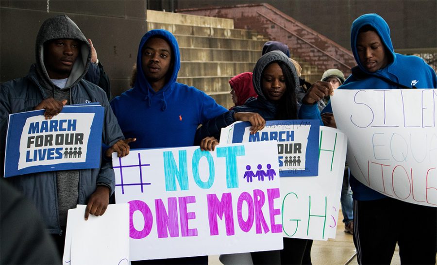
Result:
[[[274,130],[269,128],[269,132]],[[276,126],[276,130],[281,127]],[[235,140],[229,134],[235,135],[230,127],[222,129],[220,140],[223,143]],[[315,240],[336,237],[347,138],[339,130],[320,126],[319,138],[315,139],[319,140],[319,153],[312,159],[319,160],[318,176],[280,178],[285,237]]]

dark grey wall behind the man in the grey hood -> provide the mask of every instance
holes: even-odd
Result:
[[[113,95],[128,89],[139,40],[147,31],[146,0],[0,1],[0,81],[28,73],[35,62],[39,27],[60,14],[75,21],[93,41]]]

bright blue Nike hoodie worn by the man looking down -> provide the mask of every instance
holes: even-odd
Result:
[[[381,41],[386,47],[386,53],[388,56],[388,65],[376,72],[369,72],[361,64],[358,51],[356,48],[356,39],[358,37],[359,30],[369,25],[376,30]],[[390,38],[390,29],[387,22],[377,14],[366,14],[358,17],[353,21],[351,28],[351,48],[353,57],[358,64],[361,71],[369,76],[365,79],[357,79],[353,75],[341,85],[338,89],[397,89],[399,88],[395,84],[387,83],[376,76],[385,77],[395,83],[400,83],[408,87],[413,85],[416,88],[436,88],[437,76],[434,69],[427,65],[421,58],[417,56],[406,56],[399,53],[395,53],[393,44]],[[334,92],[335,93],[335,92]],[[328,104],[323,112],[332,112],[331,104]],[[299,113],[299,117],[303,119],[319,118],[320,113],[315,105],[302,105]],[[320,119],[321,120],[321,119]],[[361,182],[357,181],[351,174],[350,184],[353,191],[353,199],[357,200],[373,200],[383,199],[387,196],[370,189]]]

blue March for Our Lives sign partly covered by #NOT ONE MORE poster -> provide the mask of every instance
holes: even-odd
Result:
[[[222,129],[227,143],[278,142],[280,177],[306,177],[319,174],[319,120],[266,121],[266,127],[250,133],[249,122],[234,123]],[[223,138],[220,137],[220,143]],[[224,142],[223,142],[224,143]]]

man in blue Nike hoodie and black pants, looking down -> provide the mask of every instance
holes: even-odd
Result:
[[[436,72],[422,59],[394,52],[387,22],[376,14],[353,21],[351,46],[358,66],[339,89],[437,87]],[[299,117],[320,119],[315,103],[330,94],[333,91],[326,87],[313,86],[303,98]],[[325,111],[332,112],[330,104]],[[401,264],[436,263],[437,208],[389,198],[358,182],[352,174],[350,182],[353,241],[359,264],[390,264],[396,243]]]

